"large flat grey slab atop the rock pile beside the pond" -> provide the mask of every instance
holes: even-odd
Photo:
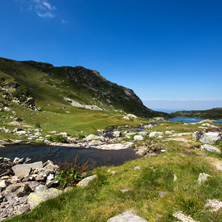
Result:
[[[19,164],[12,167],[15,176],[20,178],[24,178],[29,176],[31,170],[42,168],[42,161],[30,163],[30,164]]]

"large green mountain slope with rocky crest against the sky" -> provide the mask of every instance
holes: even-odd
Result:
[[[81,66],[54,67],[49,63],[0,58],[0,76],[5,99],[12,98],[30,108],[77,104],[77,107],[123,111],[145,118],[168,116],[144,106],[133,90]]]

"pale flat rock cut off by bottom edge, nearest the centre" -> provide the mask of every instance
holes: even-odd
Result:
[[[146,220],[135,215],[134,212],[130,210],[110,218],[107,222],[146,222]]]

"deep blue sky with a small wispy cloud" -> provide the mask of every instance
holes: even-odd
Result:
[[[222,107],[221,12],[221,0],[1,0],[0,56],[96,69],[154,109]]]

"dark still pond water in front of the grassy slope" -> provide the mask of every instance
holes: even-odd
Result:
[[[45,145],[11,145],[0,148],[0,157],[8,157],[13,160],[15,157],[31,158],[35,161],[58,161],[59,163],[74,162],[76,155],[79,156],[79,164],[89,161],[89,169],[100,166],[118,166],[126,161],[135,160],[140,156],[136,155],[133,149],[124,150],[99,150],[93,148],[70,148]]]

